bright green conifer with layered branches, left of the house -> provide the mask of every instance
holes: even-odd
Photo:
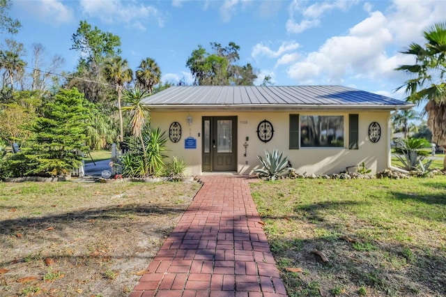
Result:
[[[93,124],[85,101],[77,89],[61,90],[45,104],[43,115],[29,124],[31,146],[22,151],[34,161],[32,173],[59,176],[81,164],[76,150],[84,150],[86,128]]]

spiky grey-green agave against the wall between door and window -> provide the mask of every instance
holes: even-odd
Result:
[[[259,176],[266,177],[268,181],[275,181],[279,176],[289,174],[290,168],[288,167],[288,157],[283,157],[283,153],[279,155],[277,148],[272,153],[265,151],[265,158],[260,155],[257,156],[262,163],[262,169],[254,169],[254,172]]]

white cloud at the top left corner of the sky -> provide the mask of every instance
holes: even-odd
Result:
[[[47,24],[70,24],[74,21],[72,8],[66,6],[62,1],[16,1],[14,5],[20,6],[22,11],[26,11],[29,16],[38,18]]]

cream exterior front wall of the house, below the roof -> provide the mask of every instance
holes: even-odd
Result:
[[[289,149],[289,114],[344,116],[344,148],[299,148]],[[348,114],[359,114],[359,149],[348,149]],[[187,124],[187,116],[192,116],[192,125]],[[288,155],[296,172],[307,174],[333,174],[346,170],[346,167],[365,166],[373,173],[387,168],[390,155],[388,139],[388,118],[390,112],[157,112],[151,110],[151,125],[160,127],[169,135],[169,126],[178,121],[181,125],[182,135],[177,143],[167,141],[169,151],[167,155],[183,158],[188,165],[185,174],[201,174],[201,117],[202,116],[237,116],[238,117],[238,174],[253,174],[252,170],[261,166],[257,155],[265,155],[265,151],[277,148],[279,152]],[[270,121],[274,128],[274,135],[270,142],[261,142],[257,137],[257,125],[264,119]],[[378,122],[381,128],[380,140],[372,143],[369,140],[369,125]],[[197,148],[186,149],[184,140],[192,136],[197,139]],[[245,138],[247,142],[247,155],[245,153]],[[169,160],[167,160],[168,162]]]

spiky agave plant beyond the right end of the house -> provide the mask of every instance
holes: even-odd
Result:
[[[395,157],[403,163],[404,169],[409,171],[421,170],[422,172],[429,169],[432,160],[423,163],[424,158],[426,158],[426,155],[428,155],[429,152],[422,148],[431,146],[426,139],[408,137],[406,139],[397,139],[395,142],[397,143]]]

